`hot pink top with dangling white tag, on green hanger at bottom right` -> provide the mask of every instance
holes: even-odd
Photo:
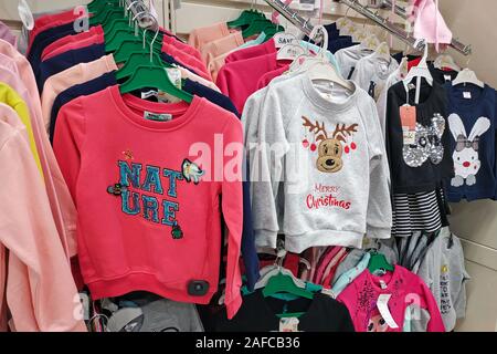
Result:
[[[392,295],[388,308],[398,329],[392,329],[381,321],[382,316],[377,308],[380,294]],[[405,309],[413,303],[430,313],[427,332],[445,332],[442,315],[430,288],[420,277],[400,266],[395,266],[393,272],[383,277],[372,275],[364,270],[340,293],[338,300],[349,309],[357,332],[401,332]]]

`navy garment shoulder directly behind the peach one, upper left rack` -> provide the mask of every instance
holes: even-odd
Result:
[[[61,53],[40,64],[40,72],[36,77],[38,90],[43,91],[45,81],[60,72],[73,67],[81,63],[89,63],[105,55],[105,44],[92,44]]]

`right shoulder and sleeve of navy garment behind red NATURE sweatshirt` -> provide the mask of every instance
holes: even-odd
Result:
[[[240,117],[233,102],[222,93],[199,84],[194,81],[187,79],[183,84],[183,90],[200,96],[205,97],[210,102],[219,105],[220,107],[234,113]],[[248,164],[245,164],[248,168]],[[245,176],[250,176],[248,170],[246,170]],[[247,288],[252,291],[255,283],[260,278],[258,272],[258,257],[255,249],[255,236],[252,223],[252,208],[251,208],[251,197],[250,197],[250,181],[245,180],[243,183],[243,235],[242,235],[242,257],[245,266],[245,275],[247,280]]]

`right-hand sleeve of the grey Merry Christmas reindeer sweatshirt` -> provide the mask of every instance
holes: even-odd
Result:
[[[367,236],[376,239],[389,239],[392,230],[389,163],[374,101],[369,96],[364,101],[367,106],[363,112],[367,115],[363,115],[363,124],[367,126],[370,154]]]

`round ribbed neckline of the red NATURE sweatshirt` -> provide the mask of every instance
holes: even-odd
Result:
[[[193,101],[190,104],[188,104],[187,102],[149,102],[135,97],[131,94],[121,95],[118,85],[109,87],[109,91],[112,100],[116,105],[116,108],[121,113],[123,118],[141,128],[159,132],[179,129],[198,115],[199,110],[203,106],[204,103],[203,98],[200,98],[199,96],[193,96]],[[131,108],[142,112],[142,114],[137,114]],[[177,117],[168,122],[150,121],[144,118],[144,114],[146,111],[159,114],[172,114]]]

